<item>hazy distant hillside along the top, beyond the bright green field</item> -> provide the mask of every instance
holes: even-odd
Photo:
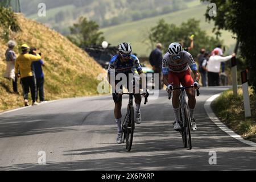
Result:
[[[51,28],[67,35],[68,27],[80,16],[107,27],[179,11],[193,2],[200,0],[22,0],[20,5],[27,18],[49,24]],[[39,3],[46,4],[46,17],[38,16]]]

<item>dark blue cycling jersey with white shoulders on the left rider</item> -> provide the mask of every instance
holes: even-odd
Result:
[[[135,55],[131,55],[125,62],[121,62],[120,55],[115,55],[109,62],[108,74],[114,71],[114,73],[132,73],[132,68],[135,67],[138,73],[142,73],[139,59]]]

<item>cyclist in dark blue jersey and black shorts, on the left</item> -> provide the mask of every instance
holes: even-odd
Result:
[[[139,59],[137,56],[131,54],[132,48],[129,43],[121,43],[118,46],[118,55],[114,55],[112,59],[109,62],[109,68],[108,68],[108,81],[109,84],[112,85],[114,88],[114,93],[112,93],[113,100],[115,102],[115,107],[114,107],[114,117],[115,117],[115,123],[117,123],[117,143],[122,143],[122,126],[121,126],[121,107],[122,107],[122,86],[121,85],[119,88],[116,89],[116,85],[118,84],[119,80],[115,80],[115,77],[118,75],[118,73],[123,73],[126,76],[126,88],[129,87],[129,82],[132,82],[130,85],[133,85],[133,89],[135,86],[136,80],[130,80],[129,81],[129,73],[133,74],[132,68],[135,67],[137,69],[137,72],[139,75],[141,75],[142,68],[141,65],[139,64]],[[113,78],[114,76],[114,78]],[[110,79],[114,79],[114,82],[112,83]],[[130,88],[129,88],[130,90]],[[119,100],[118,100],[119,96]],[[143,92],[143,96],[147,97],[148,93],[146,91]],[[141,123],[141,95],[135,95],[135,105],[136,105],[136,110],[135,110],[135,122],[137,124]]]

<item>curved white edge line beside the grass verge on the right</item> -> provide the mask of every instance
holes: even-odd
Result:
[[[216,94],[216,95],[214,95],[214,96],[208,98],[207,101],[205,101],[204,109],[205,109],[205,111],[207,112],[208,117],[209,117],[209,118],[212,120],[212,122],[214,122],[215,125],[217,125],[222,131],[225,131],[225,133],[227,133],[228,135],[230,135],[230,137],[233,137],[233,138],[239,140],[240,142],[243,142],[243,143],[245,143],[245,144],[248,144],[249,146],[256,147],[256,143],[247,141],[247,140],[243,139],[240,135],[234,133],[233,130],[230,130],[228,127],[226,127],[226,125],[224,125],[224,123],[222,123],[222,122],[216,117],[216,115],[213,113],[213,110],[212,110],[212,108],[210,107],[210,104],[211,104],[212,101],[214,101],[218,96],[220,96],[220,94],[221,94],[221,93]]]

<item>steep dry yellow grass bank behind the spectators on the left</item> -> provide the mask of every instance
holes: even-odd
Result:
[[[37,47],[46,63],[46,100],[97,94],[97,76],[105,71],[96,61],[56,31],[24,18],[22,14],[16,14],[16,17],[22,31],[11,32],[11,37],[18,45],[27,43]],[[13,88],[11,82],[2,76],[6,69],[6,63],[3,61],[6,48],[6,42],[0,38],[0,111],[23,106],[21,94],[17,96],[10,93]],[[15,53],[18,53],[17,47]],[[18,89],[19,93],[22,93],[20,84]]]

